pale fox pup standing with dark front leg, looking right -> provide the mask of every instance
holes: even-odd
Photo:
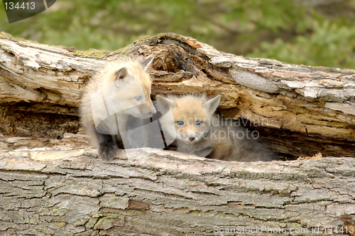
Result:
[[[146,146],[144,119],[156,113],[151,78],[146,73],[152,59],[138,62],[125,58],[107,63],[85,87],[81,121],[99,146],[102,159],[114,159],[119,149]]]

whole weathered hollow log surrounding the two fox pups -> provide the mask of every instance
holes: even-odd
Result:
[[[108,60],[149,55],[153,97],[221,94],[219,114],[283,159],[309,157],[146,148],[102,161],[80,132],[85,82]],[[355,70],[244,58],[173,33],[114,52],[1,33],[0,235],[354,235],[354,102]]]

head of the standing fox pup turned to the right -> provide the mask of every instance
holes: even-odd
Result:
[[[129,114],[146,119],[156,113],[151,101],[151,78],[146,73],[153,57],[141,62],[120,63],[120,68],[111,66],[102,87],[109,114]]]

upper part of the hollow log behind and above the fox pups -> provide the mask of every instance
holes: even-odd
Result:
[[[219,112],[258,124],[263,141],[282,155],[292,158],[322,151],[324,156],[354,156],[355,70],[244,58],[173,33],[143,37],[114,52],[77,51],[1,33],[0,119],[6,122],[0,124],[0,132],[60,138],[65,132],[77,132],[84,83],[106,60],[122,55],[138,59],[155,55],[149,71],[153,96],[223,95]],[[33,132],[21,119],[33,121],[43,113],[62,125],[48,122],[55,125],[38,126]],[[40,132],[48,129],[52,131]]]

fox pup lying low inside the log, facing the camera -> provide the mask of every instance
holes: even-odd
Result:
[[[246,129],[234,125],[233,122],[222,122],[222,119],[214,115],[221,97],[156,97],[161,113],[166,113],[170,107],[173,111],[174,120],[162,117],[160,124],[168,132],[165,135],[176,136],[177,151],[224,161],[278,160],[278,156],[266,145],[250,135],[248,138]]]

